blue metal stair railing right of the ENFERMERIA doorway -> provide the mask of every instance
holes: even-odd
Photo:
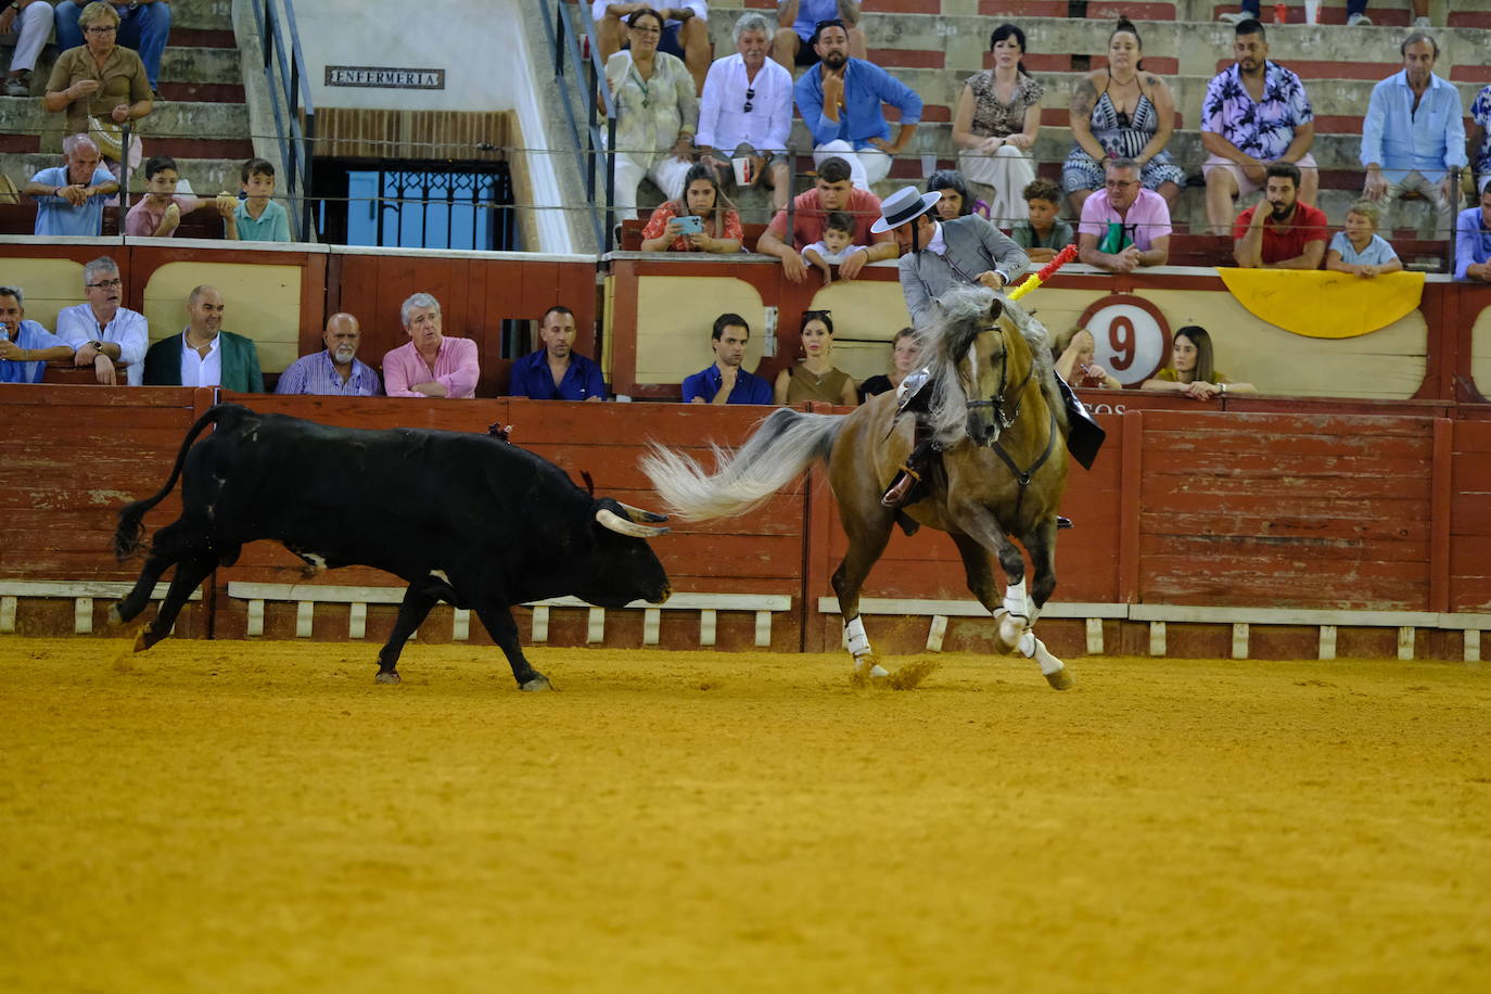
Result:
[[[571,16],[579,18],[579,27],[571,24]],[[570,124],[570,140],[574,143],[580,176],[584,179],[584,200],[590,207],[595,243],[601,247],[601,253],[605,253],[611,250],[616,232],[611,210],[616,200],[616,164],[614,155],[607,152],[607,149],[616,148],[616,101],[605,85],[605,76],[595,70],[595,60],[586,58],[580,51],[581,37],[592,54],[601,51],[590,7],[584,3],[568,4],[559,0],[555,3],[553,21],[544,18],[544,31],[553,52],[555,83],[559,89],[559,98],[564,101],[565,119]],[[576,113],[570,92],[571,83],[565,77],[567,70],[579,85],[581,115]],[[604,133],[601,131],[602,121]],[[604,203],[596,197],[596,186],[602,185],[605,189]]]

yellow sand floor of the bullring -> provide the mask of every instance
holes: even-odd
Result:
[[[122,647],[0,641],[3,991],[1491,976],[1491,669]]]

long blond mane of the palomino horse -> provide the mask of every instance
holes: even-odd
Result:
[[[1023,307],[984,286],[954,286],[938,298],[936,317],[917,331],[917,344],[932,374],[930,425],[932,435],[942,447],[951,447],[966,437],[968,393],[959,376],[959,362],[968,355],[968,346],[989,322],[989,308],[994,300],[1003,304],[1003,320],[1020,332],[1030,349],[1035,376],[1039,379],[1047,402],[1060,410],[1056,399],[1056,382],[1051,365],[1051,334]],[[1063,417],[1065,422],[1065,417]]]

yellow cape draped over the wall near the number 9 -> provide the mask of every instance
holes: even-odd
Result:
[[[1255,317],[1309,338],[1354,338],[1418,310],[1422,273],[1363,279],[1324,270],[1232,270],[1217,274]]]

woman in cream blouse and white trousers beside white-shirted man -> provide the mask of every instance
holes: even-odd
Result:
[[[693,164],[699,98],[681,58],[658,51],[662,18],[641,9],[626,18],[631,49],[605,61],[605,85],[616,97],[616,213],[637,212],[643,177],[668,200],[683,197],[683,177]]]

